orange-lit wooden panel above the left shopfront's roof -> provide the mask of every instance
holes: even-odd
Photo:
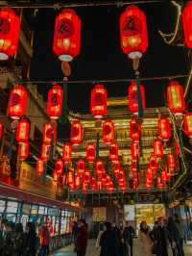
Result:
[[[37,176],[36,169],[24,162],[20,168],[19,189],[56,199],[57,186],[53,179],[46,177],[43,182],[43,179]]]

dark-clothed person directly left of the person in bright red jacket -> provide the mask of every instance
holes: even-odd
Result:
[[[25,256],[36,256],[36,226],[34,222],[27,222],[26,224],[26,240],[24,245]]]

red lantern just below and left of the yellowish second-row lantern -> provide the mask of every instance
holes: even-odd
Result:
[[[158,137],[163,141],[169,141],[172,136],[171,124],[168,117],[158,119]]]

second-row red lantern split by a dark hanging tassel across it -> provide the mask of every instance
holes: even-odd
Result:
[[[143,109],[145,109],[145,89],[143,85],[140,85],[141,100]],[[128,104],[129,110],[134,114],[138,115],[138,100],[137,100],[137,87],[134,81],[131,82],[128,88]]]

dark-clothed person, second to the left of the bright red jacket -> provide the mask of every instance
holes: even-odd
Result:
[[[23,225],[21,223],[15,224],[12,240],[13,240],[12,256],[22,256],[23,250],[24,250],[25,236],[23,232]]]

